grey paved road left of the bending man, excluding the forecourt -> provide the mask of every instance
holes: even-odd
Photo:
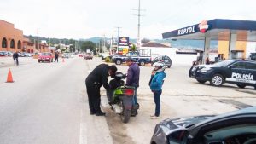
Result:
[[[97,126],[107,127],[105,118],[88,118],[84,60],[38,63],[30,59],[26,64],[10,67],[15,81],[11,84],[4,83],[9,67],[0,69],[1,144],[112,142],[108,129],[98,128],[100,140],[94,133]],[[99,124],[93,128],[94,123]]]

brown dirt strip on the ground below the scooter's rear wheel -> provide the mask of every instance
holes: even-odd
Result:
[[[120,116],[108,107],[104,107],[104,112],[108,113],[106,119],[113,138],[113,144],[135,144],[132,138],[127,135],[125,124],[121,121]]]

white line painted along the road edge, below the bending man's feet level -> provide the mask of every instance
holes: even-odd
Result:
[[[87,128],[84,120],[83,108],[80,111],[80,144],[87,144]]]

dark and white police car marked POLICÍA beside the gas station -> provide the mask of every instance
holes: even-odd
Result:
[[[252,60],[223,60],[213,65],[193,66],[189,77],[213,86],[224,83],[236,84],[239,88],[253,86],[256,89],[256,62]]]

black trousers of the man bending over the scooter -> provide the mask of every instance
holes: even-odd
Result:
[[[94,85],[86,84],[88,101],[90,112],[102,112],[101,110],[101,94],[100,88],[97,88]]]

